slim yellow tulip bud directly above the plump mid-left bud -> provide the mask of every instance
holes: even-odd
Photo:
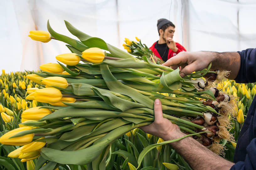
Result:
[[[60,88],[66,88],[68,86],[66,78],[63,77],[47,77],[41,80],[45,85],[48,86],[57,86]]]

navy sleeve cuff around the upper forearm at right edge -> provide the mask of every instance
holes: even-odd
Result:
[[[256,48],[238,51],[241,57],[240,70],[235,81],[237,83],[256,82]]]

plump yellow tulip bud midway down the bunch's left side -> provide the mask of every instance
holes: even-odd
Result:
[[[34,93],[31,93],[35,96],[34,100],[43,103],[57,103],[62,98],[61,91],[56,88],[41,88],[36,90]]]

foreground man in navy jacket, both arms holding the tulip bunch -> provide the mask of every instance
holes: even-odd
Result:
[[[212,63],[212,70],[231,71],[228,79],[237,83],[256,82],[256,48],[238,52],[181,52],[169,59],[165,66],[180,66],[180,76],[200,71]],[[183,156],[195,170],[253,170],[256,169],[256,97],[248,110],[246,119],[237,140],[233,163],[216,155],[193,138],[184,138],[170,145]],[[165,141],[181,138],[179,127],[163,118],[159,99],[154,103],[155,120],[152,124],[140,127],[144,132],[163,138]],[[254,117],[255,116],[255,117]]]

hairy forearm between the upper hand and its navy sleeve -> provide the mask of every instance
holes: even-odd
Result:
[[[212,55],[213,61],[211,70],[227,70],[231,71],[228,79],[235,79],[240,69],[240,55],[237,52],[206,52],[207,55]]]

